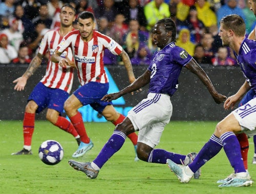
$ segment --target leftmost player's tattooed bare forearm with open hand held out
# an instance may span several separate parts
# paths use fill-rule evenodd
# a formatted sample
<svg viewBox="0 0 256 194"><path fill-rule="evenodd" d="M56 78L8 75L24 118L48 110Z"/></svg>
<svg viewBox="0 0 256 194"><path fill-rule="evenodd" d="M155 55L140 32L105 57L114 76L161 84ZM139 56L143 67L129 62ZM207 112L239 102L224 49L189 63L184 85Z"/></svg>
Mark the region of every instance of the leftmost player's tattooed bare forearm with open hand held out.
<svg viewBox="0 0 256 194"><path fill-rule="evenodd" d="M24 90L24 88L27 84L27 80L34 74L36 69L41 65L42 57L43 56L38 53L30 62L29 66L28 66L27 70L25 71L25 73L23 74L23 76L19 77L13 81L13 83L16 83L16 85L14 86L15 90L17 90L17 91Z"/></svg>

